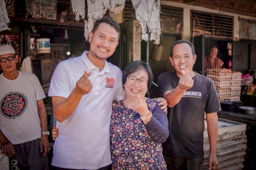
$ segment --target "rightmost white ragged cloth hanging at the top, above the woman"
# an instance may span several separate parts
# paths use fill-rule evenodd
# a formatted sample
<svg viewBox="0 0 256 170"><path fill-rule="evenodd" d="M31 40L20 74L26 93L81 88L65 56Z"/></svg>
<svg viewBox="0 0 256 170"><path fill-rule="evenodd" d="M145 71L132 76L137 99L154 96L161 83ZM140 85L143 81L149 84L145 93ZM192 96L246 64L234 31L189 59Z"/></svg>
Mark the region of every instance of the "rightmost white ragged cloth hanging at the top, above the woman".
<svg viewBox="0 0 256 170"><path fill-rule="evenodd" d="M160 43L160 0L131 0L136 14L136 19L141 26L141 39L147 41L147 26L150 33L150 40L154 44Z"/></svg>

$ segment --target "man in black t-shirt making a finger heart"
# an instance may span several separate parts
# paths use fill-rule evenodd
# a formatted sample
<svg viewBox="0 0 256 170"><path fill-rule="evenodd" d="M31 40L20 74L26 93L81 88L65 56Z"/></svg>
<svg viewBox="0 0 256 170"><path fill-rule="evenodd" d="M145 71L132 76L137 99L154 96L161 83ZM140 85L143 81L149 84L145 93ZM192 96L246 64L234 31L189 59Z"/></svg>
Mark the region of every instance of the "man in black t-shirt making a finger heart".
<svg viewBox="0 0 256 170"><path fill-rule="evenodd" d="M178 40L172 45L170 54L175 71L160 74L158 77L160 96L168 101L169 107L170 135L163 144L169 170L202 170L204 112L210 144L209 170L218 167L217 111L221 110L221 106L212 80L192 70L195 60L194 45Z"/></svg>

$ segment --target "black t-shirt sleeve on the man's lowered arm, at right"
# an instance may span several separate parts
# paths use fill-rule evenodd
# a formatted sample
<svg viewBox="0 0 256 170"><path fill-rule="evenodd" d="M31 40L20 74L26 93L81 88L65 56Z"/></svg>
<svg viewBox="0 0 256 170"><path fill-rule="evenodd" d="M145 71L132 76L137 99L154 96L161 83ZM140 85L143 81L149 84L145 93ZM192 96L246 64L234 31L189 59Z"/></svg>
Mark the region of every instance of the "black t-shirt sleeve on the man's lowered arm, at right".
<svg viewBox="0 0 256 170"><path fill-rule="evenodd" d="M212 80L210 80L209 94L207 98L205 113L214 113L218 111L221 111L221 105L218 99L218 94L214 86L214 83L212 82Z"/></svg>

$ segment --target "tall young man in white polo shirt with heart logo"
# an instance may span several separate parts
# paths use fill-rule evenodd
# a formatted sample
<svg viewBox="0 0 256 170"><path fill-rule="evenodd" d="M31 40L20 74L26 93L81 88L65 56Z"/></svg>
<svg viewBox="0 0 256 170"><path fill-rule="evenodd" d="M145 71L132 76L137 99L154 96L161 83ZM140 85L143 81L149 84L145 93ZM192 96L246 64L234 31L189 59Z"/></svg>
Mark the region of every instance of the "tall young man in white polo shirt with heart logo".
<svg viewBox="0 0 256 170"><path fill-rule="evenodd" d="M110 169L111 106L113 100L124 99L125 91L121 70L106 59L119 37L119 25L103 17L89 34L90 51L55 69L48 95L58 121L52 158L58 170Z"/></svg>

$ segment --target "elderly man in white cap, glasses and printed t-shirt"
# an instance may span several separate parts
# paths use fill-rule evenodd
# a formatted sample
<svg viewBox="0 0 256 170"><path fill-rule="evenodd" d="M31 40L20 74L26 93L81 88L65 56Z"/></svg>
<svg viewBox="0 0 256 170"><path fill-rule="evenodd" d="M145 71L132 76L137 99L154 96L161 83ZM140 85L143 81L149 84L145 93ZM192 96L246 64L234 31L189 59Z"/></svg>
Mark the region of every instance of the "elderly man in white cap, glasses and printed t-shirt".
<svg viewBox="0 0 256 170"><path fill-rule="evenodd" d="M17 71L11 45L0 47L0 144L10 169L48 170L44 91L34 74ZM1 168L0 168L1 169Z"/></svg>

